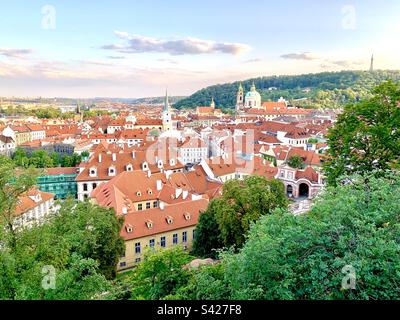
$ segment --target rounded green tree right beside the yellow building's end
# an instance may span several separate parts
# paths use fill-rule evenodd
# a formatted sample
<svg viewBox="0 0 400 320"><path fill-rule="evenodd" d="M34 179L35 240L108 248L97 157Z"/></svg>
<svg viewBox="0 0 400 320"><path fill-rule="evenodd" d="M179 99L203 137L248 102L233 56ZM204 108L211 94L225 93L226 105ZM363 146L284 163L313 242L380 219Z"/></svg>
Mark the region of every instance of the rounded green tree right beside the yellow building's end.
<svg viewBox="0 0 400 320"><path fill-rule="evenodd" d="M206 216L200 218L194 250L202 256L214 256L212 249L221 248L221 244L240 248L252 223L276 208L286 207L285 188L279 180L249 176L244 181L228 181L222 197L214 199L203 213Z"/></svg>

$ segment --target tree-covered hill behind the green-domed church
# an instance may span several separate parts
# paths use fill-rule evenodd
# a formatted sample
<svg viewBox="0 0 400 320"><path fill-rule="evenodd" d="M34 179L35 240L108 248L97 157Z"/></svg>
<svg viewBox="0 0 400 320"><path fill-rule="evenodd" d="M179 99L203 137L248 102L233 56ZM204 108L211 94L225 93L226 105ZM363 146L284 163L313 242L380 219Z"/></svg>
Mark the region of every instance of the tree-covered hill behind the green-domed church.
<svg viewBox="0 0 400 320"><path fill-rule="evenodd" d="M364 99L370 89L385 80L400 81L400 71L341 71L296 76L260 77L242 81L245 93L255 83L263 101L280 97L292 104L308 108L335 108ZM177 109L209 105L214 97L219 108L234 108L239 81L201 89L174 104Z"/></svg>

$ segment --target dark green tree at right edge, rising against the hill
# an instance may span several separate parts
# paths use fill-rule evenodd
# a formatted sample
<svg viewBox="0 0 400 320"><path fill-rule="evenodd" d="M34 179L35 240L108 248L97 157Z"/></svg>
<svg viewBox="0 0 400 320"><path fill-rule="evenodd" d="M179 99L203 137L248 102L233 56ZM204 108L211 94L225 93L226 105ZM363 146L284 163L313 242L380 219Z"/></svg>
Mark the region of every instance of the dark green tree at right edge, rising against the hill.
<svg viewBox="0 0 400 320"><path fill-rule="evenodd" d="M385 82L373 93L346 106L328 134L325 172L331 184L344 174L382 173L399 164L400 84Z"/></svg>

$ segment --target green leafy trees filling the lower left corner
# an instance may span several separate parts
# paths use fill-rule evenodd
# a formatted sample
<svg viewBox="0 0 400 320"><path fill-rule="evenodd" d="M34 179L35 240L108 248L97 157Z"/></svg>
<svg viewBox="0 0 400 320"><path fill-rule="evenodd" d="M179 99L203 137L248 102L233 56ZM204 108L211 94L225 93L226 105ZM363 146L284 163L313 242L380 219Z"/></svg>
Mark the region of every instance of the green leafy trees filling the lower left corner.
<svg viewBox="0 0 400 320"><path fill-rule="evenodd" d="M0 299L96 299L111 288L125 250L112 210L67 199L56 215L32 228L14 228L18 197L36 181L32 169L15 174L0 157ZM44 268L55 272L46 288Z"/></svg>

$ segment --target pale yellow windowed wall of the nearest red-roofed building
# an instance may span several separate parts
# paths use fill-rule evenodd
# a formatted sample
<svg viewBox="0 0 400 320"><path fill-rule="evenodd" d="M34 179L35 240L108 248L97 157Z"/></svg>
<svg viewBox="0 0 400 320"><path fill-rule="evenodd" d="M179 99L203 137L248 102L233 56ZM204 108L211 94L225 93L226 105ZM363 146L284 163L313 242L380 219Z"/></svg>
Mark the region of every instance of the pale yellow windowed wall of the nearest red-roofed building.
<svg viewBox="0 0 400 320"><path fill-rule="evenodd" d="M151 235L147 237L142 237L138 239L128 240L125 241L125 256L120 258L118 263L117 269L119 271L133 268L138 263L143 260L143 253L145 252L146 248L149 248L149 243L151 239L154 239L155 244L154 247L156 249L162 248L161 247L161 237L165 237L166 239L166 246L165 248L171 248L174 246L186 246L189 250L192 248L193 245L193 231L195 230L195 226L177 229L174 231L169 231L165 233L160 233L156 235ZM182 233L187 232L187 242L182 242ZM173 235L178 234L178 244L173 244ZM135 244L140 243L140 253L135 253ZM140 259L140 260L139 260Z"/></svg>

